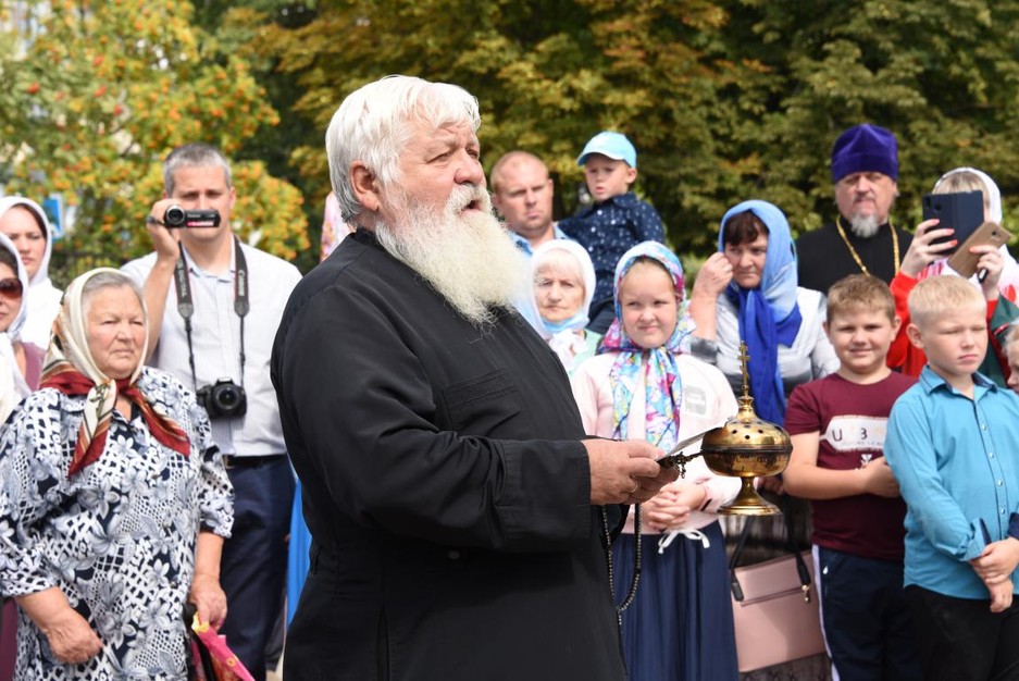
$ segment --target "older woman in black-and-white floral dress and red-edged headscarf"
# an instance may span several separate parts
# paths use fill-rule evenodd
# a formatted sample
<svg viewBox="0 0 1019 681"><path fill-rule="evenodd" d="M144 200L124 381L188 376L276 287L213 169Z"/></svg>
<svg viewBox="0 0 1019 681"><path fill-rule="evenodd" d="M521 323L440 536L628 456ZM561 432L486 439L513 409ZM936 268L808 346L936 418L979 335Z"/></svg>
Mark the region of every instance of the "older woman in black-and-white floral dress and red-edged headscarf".
<svg viewBox="0 0 1019 681"><path fill-rule="evenodd" d="M17 679L181 679L185 603L213 627L226 616L229 480L195 396L142 367L147 329L131 278L77 277L41 387L0 435L0 594L21 609Z"/></svg>

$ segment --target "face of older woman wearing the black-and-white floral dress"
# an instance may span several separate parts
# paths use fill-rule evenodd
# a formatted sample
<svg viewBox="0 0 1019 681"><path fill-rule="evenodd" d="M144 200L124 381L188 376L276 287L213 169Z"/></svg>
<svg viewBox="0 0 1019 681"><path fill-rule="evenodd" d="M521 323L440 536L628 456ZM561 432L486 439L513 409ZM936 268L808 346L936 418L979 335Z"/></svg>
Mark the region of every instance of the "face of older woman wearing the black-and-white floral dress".
<svg viewBox="0 0 1019 681"><path fill-rule="evenodd" d="M83 301L88 351L111 379L127 379L145 352L145 312L131 286L100 288Z"/></svg>

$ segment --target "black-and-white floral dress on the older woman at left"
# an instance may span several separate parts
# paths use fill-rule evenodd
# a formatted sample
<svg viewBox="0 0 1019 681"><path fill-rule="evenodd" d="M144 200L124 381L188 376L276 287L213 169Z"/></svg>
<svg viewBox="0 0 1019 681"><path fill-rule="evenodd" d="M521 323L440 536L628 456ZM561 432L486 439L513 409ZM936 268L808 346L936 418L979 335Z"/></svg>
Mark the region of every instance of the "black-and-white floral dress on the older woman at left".
<svg viewBox="0 0 1019 681"><path fill-rule="evenodd" d="M200 529L229 535L233 490L194 394L149 368L138 386L188 433L189 457L137 409L114 412L102 456L69 480L85 397L53 388L28 396L0 434L0 594L58 586L103 643L86 664L61 664L22 614L17 679L186 678L195 544Z"/></svg>

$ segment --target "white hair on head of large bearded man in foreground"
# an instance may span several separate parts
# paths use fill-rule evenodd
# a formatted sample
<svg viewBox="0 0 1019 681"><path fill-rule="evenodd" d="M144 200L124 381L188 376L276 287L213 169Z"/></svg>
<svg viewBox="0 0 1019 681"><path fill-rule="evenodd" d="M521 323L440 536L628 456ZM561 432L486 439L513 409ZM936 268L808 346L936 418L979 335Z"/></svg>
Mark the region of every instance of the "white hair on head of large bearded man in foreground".
<svg viewBox="0 0 1019 681"><path fill-rule="evenodd" d="M457 85L431 83L412 76L386 76L349 95L325 132L330 181L343 219L351 222L362 210L350 166L360 161L383 186L399 181L399 157L413 135L410 123L436 128L469 123L481 127L477 99Z"/></svg>

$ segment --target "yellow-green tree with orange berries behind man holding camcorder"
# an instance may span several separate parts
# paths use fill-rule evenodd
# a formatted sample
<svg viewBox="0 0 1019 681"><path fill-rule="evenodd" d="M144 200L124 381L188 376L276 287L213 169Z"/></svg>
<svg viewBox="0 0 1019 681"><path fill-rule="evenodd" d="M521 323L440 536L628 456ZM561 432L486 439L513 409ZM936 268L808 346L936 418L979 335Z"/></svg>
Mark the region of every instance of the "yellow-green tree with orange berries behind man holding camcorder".
<svg viewBox="0 0 1019 681"><path fill-rule="evenodd" d="M0 165L8 191L63 196L75 231L66 280L150 250L144 219L160 162L207 141L227 156L278 122L243 59L190 23L185 2L22 2L0 9ZM235 230L284 258L308 248L302 198L257 161L237 163Z"/></svg>

